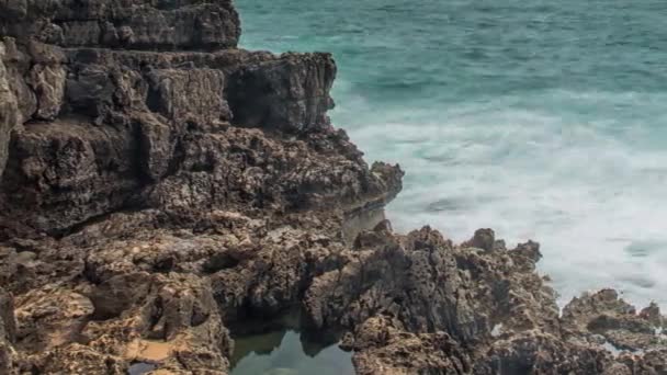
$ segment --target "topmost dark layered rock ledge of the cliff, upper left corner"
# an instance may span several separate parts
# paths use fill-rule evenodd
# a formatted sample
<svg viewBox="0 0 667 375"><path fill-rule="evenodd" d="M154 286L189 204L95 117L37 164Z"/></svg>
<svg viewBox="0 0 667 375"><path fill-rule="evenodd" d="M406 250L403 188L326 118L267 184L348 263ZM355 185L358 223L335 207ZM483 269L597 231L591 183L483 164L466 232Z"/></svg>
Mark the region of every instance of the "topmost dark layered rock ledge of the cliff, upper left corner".
<svg viewBox="0 0 667 375"><path fill-rule="evenodd" d="M229 0L14 0L0 14L0 34L65 47L229 48L240 34Z"/></svg>

